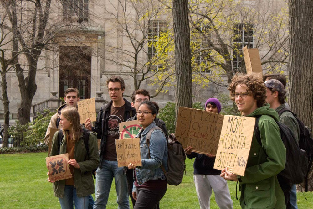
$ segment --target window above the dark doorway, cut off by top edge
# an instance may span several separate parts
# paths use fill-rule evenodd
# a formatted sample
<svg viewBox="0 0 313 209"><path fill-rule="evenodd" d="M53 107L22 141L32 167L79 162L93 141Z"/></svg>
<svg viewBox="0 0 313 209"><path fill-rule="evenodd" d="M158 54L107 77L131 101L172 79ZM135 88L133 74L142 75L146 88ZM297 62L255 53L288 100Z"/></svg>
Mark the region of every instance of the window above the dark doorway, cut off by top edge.
<svg viewBox="0 0 313 209"><path fill-rule="evenodd" d="M62 0L64 20L88 22L88 0Z"/></svg>

